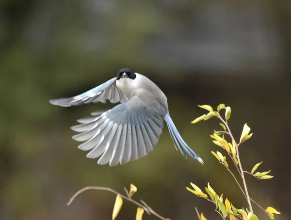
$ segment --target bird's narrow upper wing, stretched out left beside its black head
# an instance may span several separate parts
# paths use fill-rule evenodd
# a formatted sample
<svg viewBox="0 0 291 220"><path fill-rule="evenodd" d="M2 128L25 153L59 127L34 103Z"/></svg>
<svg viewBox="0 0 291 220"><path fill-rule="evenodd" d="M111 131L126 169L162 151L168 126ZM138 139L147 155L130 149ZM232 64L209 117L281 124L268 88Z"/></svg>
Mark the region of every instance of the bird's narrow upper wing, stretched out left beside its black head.
<svg viewBox="0 0 291 220"><path fill-rule="evenodd" d="M87 104L90 102L102 102L105 103L106 100L111 103L117 102L128 102L128 97L121 92L116 86L116 77L104 82L103 84L76 96L69 98L56 98L50 99L49 102L52 105L69 107L69 106L79 106L82 104Z"/></svg>

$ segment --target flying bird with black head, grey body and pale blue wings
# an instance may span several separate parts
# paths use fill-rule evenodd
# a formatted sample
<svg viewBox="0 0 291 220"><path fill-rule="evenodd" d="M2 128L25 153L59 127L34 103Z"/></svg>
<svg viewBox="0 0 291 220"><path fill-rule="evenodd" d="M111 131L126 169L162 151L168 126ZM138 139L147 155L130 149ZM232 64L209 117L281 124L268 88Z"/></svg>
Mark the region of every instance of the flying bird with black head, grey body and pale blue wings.
<svg viewBox="0 0 291 220"><path fill-rule="evenodd" d="M110 110L92 112L72 126L79 134L72 136L81 141L78 148L89 151L87 158L98 158L97 164L123 165L140 159L157 145L164 126L169 129L176 150L186 153L203 164L203 160L182 139L170 117L167 97L146 76L122 68L117 76L82 94L50 99L52 105L80 106L88 103L120 103ZM185 153L186 152L186 153Z"/></svg>

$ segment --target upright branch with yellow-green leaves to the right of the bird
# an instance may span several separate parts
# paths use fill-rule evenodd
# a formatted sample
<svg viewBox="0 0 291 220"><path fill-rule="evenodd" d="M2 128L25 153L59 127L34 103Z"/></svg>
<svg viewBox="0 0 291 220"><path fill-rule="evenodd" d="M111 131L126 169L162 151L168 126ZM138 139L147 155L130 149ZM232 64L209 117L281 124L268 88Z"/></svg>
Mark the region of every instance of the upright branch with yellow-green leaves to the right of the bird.
<svg viewBox="0 0 291 220"><path fill-rule="evenodd" d="M241 208L241 209L235 208L233 206L233 204L229 202L228 199L226 199L225 201L223 200L223 194L218 196L218 194L210 187L209 183L208 183L208 187L205 187L205 191L207 192L208 195L206 193L204 193L194 183L191 183L191 186L193 187L193 189L190 189L188 187L186 189L188 189L190 192L194 193L196 196L202 197L202 198L212 202L213 204L215 204L215 211L220 214L222 219L226 219L226 217L228 216L230 220L237 220L237 219L259 220L259 218L254 214L252 202L254 204L257 204L259 206L259 208L261 208L270 217L270 219L272 219L272 220L275 219L274 214L280 214L280 213L277 210L275 210L275 208L270 207L270 206L267 207L266 209L263 209L257 202L255 202L253 199L250 198L248 188L246 185L244 173L251 174L259 180L271 179L274 177L272 175L268 175L271 172L271 170L266 171L266 172L262 172L262 173L256 172L256 170L259 168L259 165L262 162L257 163L253 167L251 172L244 171L242 168L239 147L244 141L247 141L248 139L250 139L252 137L253 133L250 133L250 130L251 130L250 127L247 126L247 124L244 124L244 126L242 128L242 135L241 135L240 141L237 142L237 141L235 141L234 136L232 135L230 127L228 125L228 120L230 119L230 116L231 116L231 108L229 106L226 107L225 104L220 104L217 107L217 111L214 111L213 108L209 105L201 105L201 106L198 105L198 106L202 109L208 110L209 112L207 114L204 114L204 115L196 118L192 122L193 124L200 122L200 121L208 120L212 117L217 117L222 122L219 125L223 128L223 130L221 130L221 131L214 130L214 133L212 135L210 135L210 137L213 139L212 141L214 144L218 145L224 151L226 151L227 156L230 157L231 161L234 163L234 165L238 171L239 178L241 179L242 185L240 184L240 181L236 177L236 175L229 169L228 163L226 161L226 156L224 156L219 151L216 151L216 152L211 151L211 154L214 157L216 157L216 159L219 161L219 163L221 163L226 168L226 170L231 174L231 176L235 180L236 184L239 186L240 190L242 191L242 194L244 195L244 197L247 201L248 207L245 210L243 208ZM221 116L222 110L225 111L224 112L225 119ZM227 140L231 140L231 141L228 142ZM210 197L210 199L209 199L209 197ZM206 220L206 218L204 216L202 216L202 215L199 216L198 211L197 211L197 213L198 213L199 219Z"/></svg>

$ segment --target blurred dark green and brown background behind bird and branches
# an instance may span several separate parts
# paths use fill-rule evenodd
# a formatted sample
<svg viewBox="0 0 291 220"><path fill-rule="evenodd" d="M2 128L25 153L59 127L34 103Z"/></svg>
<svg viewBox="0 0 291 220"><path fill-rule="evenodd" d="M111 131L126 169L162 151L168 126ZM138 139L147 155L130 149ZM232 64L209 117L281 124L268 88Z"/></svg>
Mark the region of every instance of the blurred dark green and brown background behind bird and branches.
<svg viewBox="0 0 291 220"><path fill-rule="evenodd" d="M128 67L167 95L184 140L205 165L184 159L164 128L155 150L124 166L97 165L71 139L70 126L113 104L61 108L50 98L80 94ZM291 1L258 0L1 0L0 219L109 220L115 195L86 191L133 183L155 211L172 220L220 217L185 188L210 182L236 207L242 193L218 164L210 139L218 119L192 125L197 104L232 108L237 139L244 123L254 136L241 147L242 165L272 169L272 180L246 176L251 197L291 219ZM233 168L233 167L232 167ZM235 172L235 170L234 170ZM268 217L254 204L261 220ZM135 218L128 202L117 217ZM152 216L145 219L153 220Z"/></svg>

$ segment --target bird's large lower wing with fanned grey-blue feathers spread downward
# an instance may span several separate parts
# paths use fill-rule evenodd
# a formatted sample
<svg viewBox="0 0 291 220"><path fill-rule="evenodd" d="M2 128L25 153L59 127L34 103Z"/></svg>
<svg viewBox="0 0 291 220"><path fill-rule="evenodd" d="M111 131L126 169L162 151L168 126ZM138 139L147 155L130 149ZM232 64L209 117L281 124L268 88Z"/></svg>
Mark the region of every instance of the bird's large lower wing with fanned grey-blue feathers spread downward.
<svg viewBox="0 0 291 220"><path fill-rule="evenodd" d="M88 158L101 156L98 164L110 166L146 156L159 141L163 128L162 116L138 97L78 121L82 124L71 127L82 132L73 136L76 141L85 141L78 148L91 150Z"/></svg>

